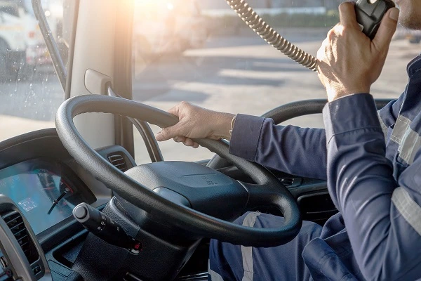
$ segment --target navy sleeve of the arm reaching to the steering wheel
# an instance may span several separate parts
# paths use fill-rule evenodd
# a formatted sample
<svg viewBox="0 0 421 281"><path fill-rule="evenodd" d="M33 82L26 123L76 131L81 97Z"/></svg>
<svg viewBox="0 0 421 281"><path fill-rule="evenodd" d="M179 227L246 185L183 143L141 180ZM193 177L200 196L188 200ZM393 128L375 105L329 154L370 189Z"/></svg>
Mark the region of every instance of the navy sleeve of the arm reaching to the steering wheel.
<svg viewBox="0 0 421 281"><path fill-rule="evenodd" d="M237 115L229 152L288 174L326 180L324 129L277 126L272 119Z"/></svg>

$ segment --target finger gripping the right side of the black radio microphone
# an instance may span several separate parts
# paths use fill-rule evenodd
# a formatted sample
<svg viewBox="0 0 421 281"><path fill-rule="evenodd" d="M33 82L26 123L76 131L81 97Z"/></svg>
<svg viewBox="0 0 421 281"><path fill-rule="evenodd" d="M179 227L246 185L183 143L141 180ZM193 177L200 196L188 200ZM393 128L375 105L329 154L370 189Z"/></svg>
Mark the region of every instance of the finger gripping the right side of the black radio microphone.
<svg viewBox="0 0 421 281"><path fill-rule="evenodd" d="M390 42L398 25L398 18L398 8L390 8L383 17L379 30L377 30L377 34L375 34L373 39L373 44L377 51L387 51L389 49Z"/></svg>

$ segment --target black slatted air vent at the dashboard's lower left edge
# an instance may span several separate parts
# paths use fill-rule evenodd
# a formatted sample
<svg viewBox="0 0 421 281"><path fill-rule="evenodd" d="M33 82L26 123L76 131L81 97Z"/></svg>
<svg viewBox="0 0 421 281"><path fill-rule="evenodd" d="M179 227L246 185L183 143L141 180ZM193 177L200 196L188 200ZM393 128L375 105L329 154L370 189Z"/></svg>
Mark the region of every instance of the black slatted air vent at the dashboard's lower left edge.
<svg viewBox="0 0 421 281"><path fill-rule="evenodd" d="M25 253L29 263L33 263L39 258L38 251L36 251L34 242L32 242L31 237L23 223L22 216L17 211L8 211L1 215L1 217L6 222L8 228L15 236L16 240L20 244L22 251Z"/></svg>

